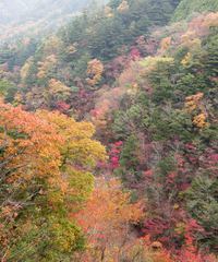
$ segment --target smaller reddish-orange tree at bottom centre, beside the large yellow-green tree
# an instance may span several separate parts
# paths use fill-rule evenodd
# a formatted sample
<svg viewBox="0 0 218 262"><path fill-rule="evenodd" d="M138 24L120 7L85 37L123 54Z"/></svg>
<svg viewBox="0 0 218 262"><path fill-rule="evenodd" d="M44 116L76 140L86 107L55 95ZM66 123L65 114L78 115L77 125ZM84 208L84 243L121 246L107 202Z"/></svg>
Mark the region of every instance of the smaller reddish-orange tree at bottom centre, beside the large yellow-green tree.
<svg viewBox="0 0 218 262"><path fill-rule="evenodd" d="M76 218L86 233L87 249L78 261L121 261L134 243L131 225L143 216L142 203L130 203L117 179L98 179L89 201Z"/></svg>

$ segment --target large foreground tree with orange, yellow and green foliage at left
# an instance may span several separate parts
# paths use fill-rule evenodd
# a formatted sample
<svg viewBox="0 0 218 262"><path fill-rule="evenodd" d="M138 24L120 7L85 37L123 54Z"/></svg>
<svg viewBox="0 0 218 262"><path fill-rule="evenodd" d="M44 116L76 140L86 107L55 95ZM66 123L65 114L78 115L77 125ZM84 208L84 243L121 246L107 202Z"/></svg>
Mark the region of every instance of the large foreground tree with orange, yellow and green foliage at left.
<svg viewBox="0 0 218 262"><path fill-rule="evenodd" d="M0 102L0 260L60 261L82 248L76 212L105 147L88 122Z"/></svg>

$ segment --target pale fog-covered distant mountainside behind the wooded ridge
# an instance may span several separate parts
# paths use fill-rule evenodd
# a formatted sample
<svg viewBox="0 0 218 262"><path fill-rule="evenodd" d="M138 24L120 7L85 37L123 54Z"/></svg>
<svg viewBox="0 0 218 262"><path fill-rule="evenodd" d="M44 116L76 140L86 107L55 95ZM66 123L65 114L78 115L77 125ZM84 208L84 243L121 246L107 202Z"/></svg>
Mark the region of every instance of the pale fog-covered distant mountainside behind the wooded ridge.
<svg viewBox="0 0 218 262"><path fill-rule="evenodd" d="M0 45L55 32L92 4L107 0L0 0Z"/></svg>

